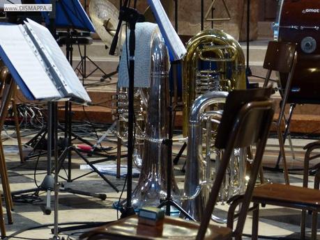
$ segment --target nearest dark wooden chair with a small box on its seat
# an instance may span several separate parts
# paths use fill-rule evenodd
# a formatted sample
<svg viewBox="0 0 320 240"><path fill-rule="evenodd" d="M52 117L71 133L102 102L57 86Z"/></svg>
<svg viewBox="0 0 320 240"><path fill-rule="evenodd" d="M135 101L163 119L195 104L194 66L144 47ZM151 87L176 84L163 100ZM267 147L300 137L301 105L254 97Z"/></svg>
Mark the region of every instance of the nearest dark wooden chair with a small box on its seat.
<svg viewBox="0 0 320 240"><path fill-rule="evenodd" d="M254 90L234 90L229 93L218 127L215 146L224 149L221 165L215 177L208 198L204 218L201 223L185 221L180 218L165 217L162 227L139 225L137 216L123 218L104 227L86 232L80 239L230 239L232 235L241 239L242 229L231 233L228 227L209 224L219 189L224 179L229 158L235 147L246 147L257 143L254 170L245 191L246 202L241 208L241 218L245 221L250 204L252 190L256 182L268 131L273 120L273 102L269 99L270 88Z"/></svg>

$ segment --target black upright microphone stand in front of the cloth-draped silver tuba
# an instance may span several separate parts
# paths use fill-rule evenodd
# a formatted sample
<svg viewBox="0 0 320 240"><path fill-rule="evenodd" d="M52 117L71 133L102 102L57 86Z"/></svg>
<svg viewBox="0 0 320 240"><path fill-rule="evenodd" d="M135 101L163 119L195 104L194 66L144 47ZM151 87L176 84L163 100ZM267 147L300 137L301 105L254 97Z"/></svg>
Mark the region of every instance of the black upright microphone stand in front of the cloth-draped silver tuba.
<svg viewBox="0 0 320 240"><path fill-rule="evenodd" d="M137 0L135 0L135 5ZM109 50L110 55L114 55L116 44L119 38L119 32L123 21L128 22L130 29L129 36L129 90L128 90L128 168L127 168L127 200L121 218L132 216L135 210L132 207L132 156L133 156L133 123L134 123L134 87L135 87L135 25L139 19L139 13L135 8L129 8L128 0L120 8L119 24L116 28L116 34L112 40L112 45Z"/></svg>

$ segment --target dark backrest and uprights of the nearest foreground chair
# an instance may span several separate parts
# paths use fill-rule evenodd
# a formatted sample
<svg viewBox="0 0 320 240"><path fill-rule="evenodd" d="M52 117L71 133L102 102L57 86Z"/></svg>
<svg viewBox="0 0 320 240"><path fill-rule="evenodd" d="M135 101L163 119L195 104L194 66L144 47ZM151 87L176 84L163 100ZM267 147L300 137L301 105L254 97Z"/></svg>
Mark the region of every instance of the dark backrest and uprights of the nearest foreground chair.
<svg viewBox="0 0 320 240"><path fill-rule="evenodd" d="M218 127L218 134L215 139L215 147L224 149L224 152L215 177L215 182L208 196L208 202L204 211L204 217L201 219L197 240L204 239L206 228L211 219L220 186L234 148L246 147L255 143L257 145L257 151L254 156L250 180L247 184L245 198L239 214L239 220L246 218L252 191L264 154L264 147L268 139L268 132L273 120L274 104L270 99L270 95L271 88L234 90L229 93ZM236 231L242 232L242 230L243 226L237 225Z"/></svg>

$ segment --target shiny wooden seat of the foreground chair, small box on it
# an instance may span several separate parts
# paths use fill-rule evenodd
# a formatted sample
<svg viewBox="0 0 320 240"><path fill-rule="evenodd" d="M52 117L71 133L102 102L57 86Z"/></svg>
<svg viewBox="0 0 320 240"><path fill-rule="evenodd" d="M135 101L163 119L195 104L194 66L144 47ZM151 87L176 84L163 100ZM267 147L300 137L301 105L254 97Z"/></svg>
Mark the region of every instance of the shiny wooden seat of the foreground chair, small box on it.
<svg viewBox="0 0 320 240"><path fill-rule="evenodd" d="M80 239L195 239L199 225L197 222L169 216L165 217L163 227L138 225L137 216L130 216L86 232ZM209 225L205 239L223 240L230 237L231 230L228 227Z"/></svg>

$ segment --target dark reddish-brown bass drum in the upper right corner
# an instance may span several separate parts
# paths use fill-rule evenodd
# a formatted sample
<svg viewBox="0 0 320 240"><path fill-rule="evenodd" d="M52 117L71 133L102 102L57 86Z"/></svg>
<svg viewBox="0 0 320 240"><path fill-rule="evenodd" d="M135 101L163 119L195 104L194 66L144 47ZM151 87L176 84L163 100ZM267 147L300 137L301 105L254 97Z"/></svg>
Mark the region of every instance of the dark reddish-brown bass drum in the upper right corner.
<svg viewBox="0 0 320 240"><path fill-rule="evenodd" d="M298 44L288 102L320 104L320 1L279 1L275 40ZM280 79L285 86L286 76Z"/></svg>

